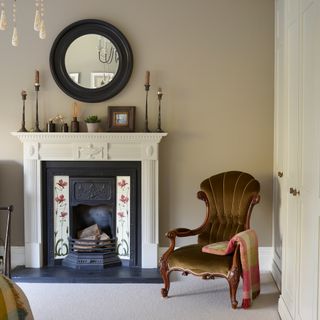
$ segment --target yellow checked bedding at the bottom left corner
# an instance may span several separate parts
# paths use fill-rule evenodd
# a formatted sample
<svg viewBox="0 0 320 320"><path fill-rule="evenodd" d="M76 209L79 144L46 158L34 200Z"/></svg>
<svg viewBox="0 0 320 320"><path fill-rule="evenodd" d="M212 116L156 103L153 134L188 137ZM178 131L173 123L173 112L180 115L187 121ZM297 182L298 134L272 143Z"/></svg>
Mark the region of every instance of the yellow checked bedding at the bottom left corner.
<svg viewBox="0 0 320 320"><path fill-rule="evenodd" d="M0 274L0 319L33 320L27 297L12 280Z"/></svg>

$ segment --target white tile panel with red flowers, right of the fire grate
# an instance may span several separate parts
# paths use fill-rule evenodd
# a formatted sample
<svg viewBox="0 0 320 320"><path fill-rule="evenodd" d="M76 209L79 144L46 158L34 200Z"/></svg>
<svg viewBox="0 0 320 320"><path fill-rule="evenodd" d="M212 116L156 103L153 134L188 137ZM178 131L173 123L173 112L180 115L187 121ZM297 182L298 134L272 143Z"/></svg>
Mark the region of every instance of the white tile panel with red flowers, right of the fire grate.
<svg viewBox="0 0 320 320"><path fill-rule="evenodd" d="M130 259L130 177L117 176L117 240L121 259Z"/></svg>

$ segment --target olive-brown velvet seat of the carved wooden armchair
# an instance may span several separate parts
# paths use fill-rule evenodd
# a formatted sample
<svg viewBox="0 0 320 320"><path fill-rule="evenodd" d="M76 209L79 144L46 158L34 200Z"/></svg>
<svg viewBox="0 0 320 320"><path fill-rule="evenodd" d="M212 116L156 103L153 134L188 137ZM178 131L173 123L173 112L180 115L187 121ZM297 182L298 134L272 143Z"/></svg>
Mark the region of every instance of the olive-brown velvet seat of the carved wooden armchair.
<svg viewBox="0 0 320 320"><path fill-rule="evenodd" d="M217 273L227 275L232 255L216 256L202 252L203 245L194 244L176 249L168 259L169 269L178 268L196 275Z"/></svg>

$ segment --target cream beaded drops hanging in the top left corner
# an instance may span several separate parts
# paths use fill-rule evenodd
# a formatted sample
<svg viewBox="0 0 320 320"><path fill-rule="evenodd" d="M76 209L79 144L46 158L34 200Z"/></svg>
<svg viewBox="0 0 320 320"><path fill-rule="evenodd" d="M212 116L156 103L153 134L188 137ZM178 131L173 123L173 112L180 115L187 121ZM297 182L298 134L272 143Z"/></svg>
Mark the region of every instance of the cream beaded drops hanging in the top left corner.
<svg viewBox="0 0 320 320"><path fill-rule="evenodd" d="M8 2L8 1L7 1ZM5 0L0 0L1 13L0 13L0 30L6 30L8 27L8 19L6 14ZM33 28L39 33L40 39L46 38L46 27L44 23L44 0L35 0L35 17ZM17 0L12 0L12 40L11 44L17 47L19 44L18 29L17 29Z"/></svg>

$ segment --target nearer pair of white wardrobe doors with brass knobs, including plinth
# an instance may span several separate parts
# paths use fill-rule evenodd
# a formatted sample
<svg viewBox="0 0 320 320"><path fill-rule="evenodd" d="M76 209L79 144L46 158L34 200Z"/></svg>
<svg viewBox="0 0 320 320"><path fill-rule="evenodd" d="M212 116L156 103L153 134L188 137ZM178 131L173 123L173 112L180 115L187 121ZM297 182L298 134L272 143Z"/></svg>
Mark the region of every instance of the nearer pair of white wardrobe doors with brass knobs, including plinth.
<svg viewBox="0 0 320 320"><path fill-rule="evenodd" d="M279 311L283 319L319 320L320 0L285 0L285 26L287 210Z"/></svg>

